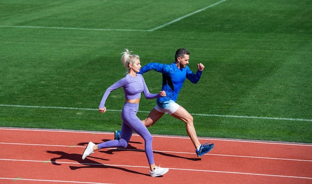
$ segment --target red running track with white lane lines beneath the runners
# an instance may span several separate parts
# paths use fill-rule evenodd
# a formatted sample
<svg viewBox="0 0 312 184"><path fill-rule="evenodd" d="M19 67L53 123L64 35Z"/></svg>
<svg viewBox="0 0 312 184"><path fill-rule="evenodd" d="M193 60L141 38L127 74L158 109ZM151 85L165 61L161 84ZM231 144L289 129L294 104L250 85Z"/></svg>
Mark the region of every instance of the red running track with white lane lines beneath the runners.
<svg viewBox="0 0 312 184"><path fill-rule="evenodd" d="M312 184L312 145L200 139L213 142L197 157L188 137L156 136L156 165L149 176L143 139L134 134L127 149L102 149L81 159L89 141L113 133L0 127L0 184Z"/></svg>

